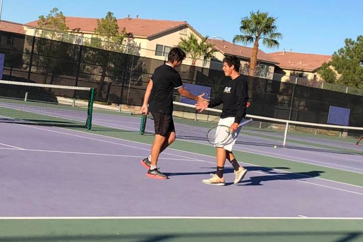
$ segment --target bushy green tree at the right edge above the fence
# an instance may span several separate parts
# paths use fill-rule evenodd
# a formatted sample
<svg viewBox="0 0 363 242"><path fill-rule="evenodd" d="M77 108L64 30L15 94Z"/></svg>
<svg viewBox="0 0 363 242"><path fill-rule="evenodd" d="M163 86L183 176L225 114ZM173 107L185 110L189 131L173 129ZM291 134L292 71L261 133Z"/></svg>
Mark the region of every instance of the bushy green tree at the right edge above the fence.
<svg viewBox="0 0 363 242"><path fill-rule="evenodd" d="M363 88L363 35L356 41L345 39L345 46L334 52L330 65L340 76L338 84Z"/></svg>

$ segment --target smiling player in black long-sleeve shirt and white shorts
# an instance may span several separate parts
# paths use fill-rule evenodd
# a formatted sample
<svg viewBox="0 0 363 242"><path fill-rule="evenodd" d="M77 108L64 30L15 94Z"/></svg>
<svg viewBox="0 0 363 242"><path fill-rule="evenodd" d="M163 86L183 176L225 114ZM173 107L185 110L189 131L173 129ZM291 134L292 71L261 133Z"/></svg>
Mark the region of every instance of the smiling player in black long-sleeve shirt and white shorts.
<svg viewBox="0 0 363 242"><path fill-rule="evenodd" d="M238 132L238 124L246 115L246 105L248 100L248 85L239 75L239 60L236 56L227 56L223 59L224 75L228 80L224 83L223 93L215 99L210 100L209 105L197 103L196 108L203 111L207 107L214 107L223 104L222 113L218 125L229 126L230 130ZM218 134L217 134L218 135ZM203 183L210 185L225 185L223 169L225 160L228 159L234 168L234 184L237 184L245 176L247 170L241 167L236 161L232 148L237 138L227 144L216 145L217 149L217 172L209 179L204 179Z"/></svg>

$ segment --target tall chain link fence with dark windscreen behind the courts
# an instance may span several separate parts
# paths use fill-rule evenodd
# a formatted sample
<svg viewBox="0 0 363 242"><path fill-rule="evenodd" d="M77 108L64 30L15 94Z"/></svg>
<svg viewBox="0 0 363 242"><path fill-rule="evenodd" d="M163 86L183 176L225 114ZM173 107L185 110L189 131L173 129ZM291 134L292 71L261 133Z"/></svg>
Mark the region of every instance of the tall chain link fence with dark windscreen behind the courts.
<svg viewBox="0 0 363 242"><path fill-rule="evenodd" d="M164 51L137 45L110 51L94 47L92 39L86 44L88 40L82 36L72 39L61 34L57 37L60 39L52 40L36 35L0 31L0 53L5 54L4 80L92 87L98 102L141 106L152 73L166 61ZM186 59L177 68L185 83L210 87L212 98L221 92L224 73L220 63L199 60L197 66L190 66L189 62ZM252 103L249 114L326 124L329 107L334 105L351 110L350 126L363 126L360 91L296 77L281 82L274 80L275 73L264 75L245 76ZM179 98L174 95L174 101Z"/></svg>

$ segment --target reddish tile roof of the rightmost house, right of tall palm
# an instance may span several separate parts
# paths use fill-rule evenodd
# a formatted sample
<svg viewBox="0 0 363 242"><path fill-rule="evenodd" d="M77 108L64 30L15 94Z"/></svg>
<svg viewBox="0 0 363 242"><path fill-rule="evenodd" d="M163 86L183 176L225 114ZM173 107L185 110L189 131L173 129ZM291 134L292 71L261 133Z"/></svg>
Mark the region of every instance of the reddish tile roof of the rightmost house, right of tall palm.
<svg viewBox="0 0 363 242"><path fill-rule="evenodd" d="M331 55L280 51L268 54L279 63L281 69L314 72L324 62L331 61Z"/></svg>

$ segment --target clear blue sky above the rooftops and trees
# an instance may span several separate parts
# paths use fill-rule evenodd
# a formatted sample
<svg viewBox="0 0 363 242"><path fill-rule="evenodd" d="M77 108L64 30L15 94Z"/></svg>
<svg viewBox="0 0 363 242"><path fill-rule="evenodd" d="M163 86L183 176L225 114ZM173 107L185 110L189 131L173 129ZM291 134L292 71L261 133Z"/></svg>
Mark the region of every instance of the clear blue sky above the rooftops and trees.
<svg viewBox="0 0 363 242"><path fill-rule="evenodd" d="M344 46L345 38L363 34L362 2L359 0L306 1L164 1L164 0L3 0L2 19L19 23L36 20L57 7L65 16L102 18L108 11L116 18L131 17L188 21L202 35L231 41L239 34L240 19L250 11L267 11L278 17L283 34L278 49L332 54Z"/></svg>

